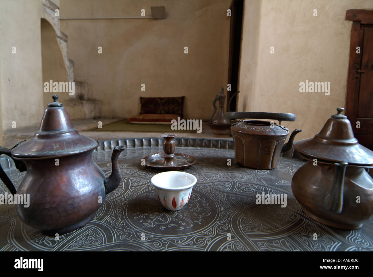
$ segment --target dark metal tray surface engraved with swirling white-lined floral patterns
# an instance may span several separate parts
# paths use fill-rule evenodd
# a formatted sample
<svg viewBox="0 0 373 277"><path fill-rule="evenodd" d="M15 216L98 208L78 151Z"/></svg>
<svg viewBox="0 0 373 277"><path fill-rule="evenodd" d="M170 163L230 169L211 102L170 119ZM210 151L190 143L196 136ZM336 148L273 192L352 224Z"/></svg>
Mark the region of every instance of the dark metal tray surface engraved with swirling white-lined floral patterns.
<svg viewBox="0 0 373 277"><path fill-rule="evenodd" d="M373 251L373 221L358 230L338 230L301 211L291 178L303 162L290 158L280 158L276 169L255 170L235 164L234 150L176 147L176 152L197 159L185 169L197 183L190 195L182 196L182 209L168 211L160 203L166 195L157 194L150 182L158 172L141 166L143 157L161 151L126 149L119 157L119 187L107 195L91 222L59 240L21 222L13 205L0 205L0 232L7 234L0 237L0 250ZM93 153L106 176L110 156L111 151ZM7 174L18 187L24 172L11 169ZM5 192L0 183L0 193ZM287 194L286 208L257 205L261 193Z"/></svg>

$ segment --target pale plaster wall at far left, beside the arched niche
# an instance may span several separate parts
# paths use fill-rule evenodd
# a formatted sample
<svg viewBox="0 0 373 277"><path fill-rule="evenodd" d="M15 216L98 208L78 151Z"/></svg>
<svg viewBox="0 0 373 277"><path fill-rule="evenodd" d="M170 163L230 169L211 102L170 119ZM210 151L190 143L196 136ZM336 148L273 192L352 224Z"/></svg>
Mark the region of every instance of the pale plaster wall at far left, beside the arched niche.
<svg viewBox="0 0 373 277"><path fill-rule="evenodd" d="M1 130L12 129L13 121L17 128L40 122L36 112L43 112L40 15L39 1L0 2ZM0 144L3 140L1 132Z"/></svg>

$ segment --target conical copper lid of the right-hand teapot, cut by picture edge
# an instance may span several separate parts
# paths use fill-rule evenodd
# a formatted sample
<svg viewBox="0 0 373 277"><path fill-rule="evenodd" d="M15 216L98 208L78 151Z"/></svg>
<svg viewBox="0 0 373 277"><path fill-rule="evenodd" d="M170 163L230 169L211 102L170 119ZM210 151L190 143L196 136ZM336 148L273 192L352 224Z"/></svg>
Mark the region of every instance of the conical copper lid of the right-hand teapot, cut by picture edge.
<svg viewBox="0 0 373 277"><path fill-rule="evenodd" d="M358 143L351 122L342 115L344 108L329 118L313 138L294 143L294 148L306 156L330 162L347 162L350 165L373 165L373 151Z"/></svg>

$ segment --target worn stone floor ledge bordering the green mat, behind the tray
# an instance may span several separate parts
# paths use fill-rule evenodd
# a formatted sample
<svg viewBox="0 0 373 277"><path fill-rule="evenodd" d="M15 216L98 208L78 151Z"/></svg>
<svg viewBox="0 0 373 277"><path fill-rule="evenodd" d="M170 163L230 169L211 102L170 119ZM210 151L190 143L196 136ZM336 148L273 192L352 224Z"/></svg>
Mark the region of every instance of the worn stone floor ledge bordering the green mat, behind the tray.
<svg viewBox="0 0 373 277"><path fill-rule="evenodd" d="M79 131L80 134L93 138L95 140L109 140L118 138L137 138L137 137L157 137L162 133L140 133L140 132L104 132L104 131L84 131L91 130L97 127L98 121L102 122L102 125L107 125L122 118L99 118L99 119L85 119L85 120L73 120L72 124ZM39 126L28 126L24 128L15 128L7 130L5 132L5 145L4 147L10 148L22 140L28 140L32 138L35 132L39 129ZM176 134L178 132L175 132ZM196 138L222 138L232 139L229 135L216 135L211 133L211 129L203 124L202 133L180 133L182 137L196 137Z"/></svg>

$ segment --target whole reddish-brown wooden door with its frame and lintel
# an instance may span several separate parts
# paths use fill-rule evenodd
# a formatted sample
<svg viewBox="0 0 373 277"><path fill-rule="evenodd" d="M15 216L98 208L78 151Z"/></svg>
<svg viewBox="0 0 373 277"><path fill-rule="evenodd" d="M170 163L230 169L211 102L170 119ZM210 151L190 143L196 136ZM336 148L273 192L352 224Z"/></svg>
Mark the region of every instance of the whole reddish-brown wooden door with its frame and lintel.
<svg viewBox="0 0 373 277"><path fill-rule="evenodd" d="M351 29L346 115L359 143L373 150L373 11L348 10Z"/></svg>

